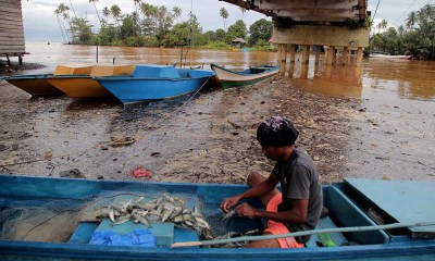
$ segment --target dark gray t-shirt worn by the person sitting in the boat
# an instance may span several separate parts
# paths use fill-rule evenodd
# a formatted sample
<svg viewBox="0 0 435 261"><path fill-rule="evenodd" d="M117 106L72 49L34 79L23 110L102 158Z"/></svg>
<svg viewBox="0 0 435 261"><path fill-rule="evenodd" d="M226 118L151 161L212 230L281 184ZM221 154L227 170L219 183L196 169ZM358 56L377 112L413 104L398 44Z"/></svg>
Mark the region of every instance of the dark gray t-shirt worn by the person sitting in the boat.
<svg viewBox="0 0 435 261"><path fill-rule="evenodd" d="M323 207L322 187L314 163L309 154L295 148L288 161L277 161L272 171L281 181L283 203L278 211L289 211L293 199L308 199L307 222L286 224L290 232L314 229ZM310 236L295 237L298 243L307 243Z"/></svg>

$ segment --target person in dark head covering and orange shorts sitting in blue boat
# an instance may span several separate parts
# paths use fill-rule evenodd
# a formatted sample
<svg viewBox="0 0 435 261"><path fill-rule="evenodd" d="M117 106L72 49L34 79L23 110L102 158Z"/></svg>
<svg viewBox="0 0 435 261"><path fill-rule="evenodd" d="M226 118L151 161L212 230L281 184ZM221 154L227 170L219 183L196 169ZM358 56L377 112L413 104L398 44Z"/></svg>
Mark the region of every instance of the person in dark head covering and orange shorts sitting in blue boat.
<svg viewBox="0 0 435 261"><path fill-rule="evenodd" d="M264 156L276 161L268 178L257 172L248 176L247 191L225 198L221 203L227 213L241 199L260 197L265 210L241 203L235 213L249 219L266 219L263 235L279 235L290 232L314 229L323 206L319 174L310 156L295 146L299 132L291 122L272 116L263 121L257 129L257 140ZM275 188L281 183L282 192ZM310 236L254 240L249 248L301 248Z"/></svg>

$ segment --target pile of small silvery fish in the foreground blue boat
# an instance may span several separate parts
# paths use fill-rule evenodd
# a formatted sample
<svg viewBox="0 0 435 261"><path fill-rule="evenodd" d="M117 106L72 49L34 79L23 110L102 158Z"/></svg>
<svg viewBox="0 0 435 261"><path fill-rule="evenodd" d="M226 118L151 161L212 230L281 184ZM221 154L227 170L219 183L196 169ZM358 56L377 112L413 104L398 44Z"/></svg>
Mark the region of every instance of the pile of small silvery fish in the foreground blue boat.
<svg viewBox="0 0 435 261"><path fill-rule="evenodd" d="M107 212L97 217L109 217L113 225L132 220L148 227L152 226L152 222L173 222L177 226L197 231L202 239L213 239L210 225L198 208L190 210L185 207L182 199L167 194L151 201L138 197L135 200L129 199L128 202L112 202L108 206Z"/></svg>

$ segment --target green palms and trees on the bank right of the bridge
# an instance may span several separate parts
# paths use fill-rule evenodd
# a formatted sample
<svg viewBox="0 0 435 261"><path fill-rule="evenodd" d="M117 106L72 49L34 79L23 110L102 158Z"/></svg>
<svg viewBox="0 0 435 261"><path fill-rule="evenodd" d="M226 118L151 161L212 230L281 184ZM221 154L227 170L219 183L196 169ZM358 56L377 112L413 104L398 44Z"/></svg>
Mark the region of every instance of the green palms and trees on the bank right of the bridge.
<svg viewBox="0 0 435 261"><path fill-rule="evenodd" d="M368 52L412 55L419 60L435 60L435 5L426 4L408 14L406 27L388 27L383 20L377 33L370 37ZM384 30L383 33L380 33Z"/></svg>

